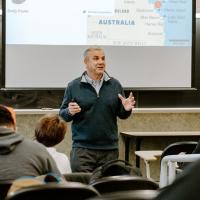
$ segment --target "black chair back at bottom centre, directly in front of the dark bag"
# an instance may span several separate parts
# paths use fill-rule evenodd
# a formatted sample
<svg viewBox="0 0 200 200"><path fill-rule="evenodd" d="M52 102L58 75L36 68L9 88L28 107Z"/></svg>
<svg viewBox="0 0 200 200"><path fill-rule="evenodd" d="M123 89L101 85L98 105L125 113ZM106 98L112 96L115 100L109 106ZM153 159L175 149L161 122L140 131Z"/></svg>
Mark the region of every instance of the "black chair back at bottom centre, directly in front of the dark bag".
<svg viewBox="0 0 200 200"><path fill-rule="evenodd" d="M100 194L127 190L157 190L154 181L136 176L107 176L91 184Z"/></svg>

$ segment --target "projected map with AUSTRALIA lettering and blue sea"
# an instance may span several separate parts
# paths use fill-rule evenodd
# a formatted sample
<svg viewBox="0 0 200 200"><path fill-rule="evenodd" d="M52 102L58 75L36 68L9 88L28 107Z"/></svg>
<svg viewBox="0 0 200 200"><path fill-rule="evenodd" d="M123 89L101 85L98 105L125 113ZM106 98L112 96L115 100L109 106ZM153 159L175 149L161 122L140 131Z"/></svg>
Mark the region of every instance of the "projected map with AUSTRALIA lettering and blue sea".
<svg viewBox="0 0 200 200"><path fill-rule="evenodd" d="M191 46L188 0L116 0L113 9L111 15L88 15L88 44Z"/></svg>

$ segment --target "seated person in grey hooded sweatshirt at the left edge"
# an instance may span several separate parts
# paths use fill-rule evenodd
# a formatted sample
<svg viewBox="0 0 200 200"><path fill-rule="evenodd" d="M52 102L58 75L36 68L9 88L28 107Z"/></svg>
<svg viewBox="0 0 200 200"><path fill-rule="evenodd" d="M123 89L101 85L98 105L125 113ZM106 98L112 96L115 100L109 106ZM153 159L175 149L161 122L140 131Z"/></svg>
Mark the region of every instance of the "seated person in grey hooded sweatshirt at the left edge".
<svg viewBox="0 0 200 200"><path fill-rule="evenodd" d="M60 175L45 147L16 133L16 115L12 108L0 105L0 181L22 176Z"/></svg>

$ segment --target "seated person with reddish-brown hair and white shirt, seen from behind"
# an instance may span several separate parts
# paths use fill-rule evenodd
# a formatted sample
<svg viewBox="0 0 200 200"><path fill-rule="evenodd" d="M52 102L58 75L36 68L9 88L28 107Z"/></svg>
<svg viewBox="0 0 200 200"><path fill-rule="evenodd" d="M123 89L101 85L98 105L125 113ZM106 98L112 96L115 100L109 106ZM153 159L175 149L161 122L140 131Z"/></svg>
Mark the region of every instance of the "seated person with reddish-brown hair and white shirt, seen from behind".
<svg viewBox="0 0 200 200"><path fill-rule="evenodd" d="M58 115L45 115L35 128L35 139L47 147L62 174L71 173L68 157L54 148L65 137L67 124Z"/></svg>

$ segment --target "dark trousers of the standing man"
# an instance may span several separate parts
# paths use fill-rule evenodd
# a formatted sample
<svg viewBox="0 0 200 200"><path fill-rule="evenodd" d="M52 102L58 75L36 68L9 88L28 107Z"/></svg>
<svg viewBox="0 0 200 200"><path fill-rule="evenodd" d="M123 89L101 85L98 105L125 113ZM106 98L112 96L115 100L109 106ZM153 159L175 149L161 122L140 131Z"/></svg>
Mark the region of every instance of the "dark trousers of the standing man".
<svg viewBox="0 0 200 200"><path fill-rule="evenodd" d="M93 172L97 167L118 159L119 151L72 148L70 163L72 172Z"/></svg>

